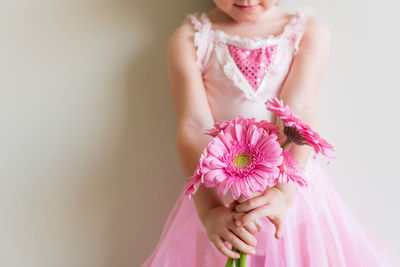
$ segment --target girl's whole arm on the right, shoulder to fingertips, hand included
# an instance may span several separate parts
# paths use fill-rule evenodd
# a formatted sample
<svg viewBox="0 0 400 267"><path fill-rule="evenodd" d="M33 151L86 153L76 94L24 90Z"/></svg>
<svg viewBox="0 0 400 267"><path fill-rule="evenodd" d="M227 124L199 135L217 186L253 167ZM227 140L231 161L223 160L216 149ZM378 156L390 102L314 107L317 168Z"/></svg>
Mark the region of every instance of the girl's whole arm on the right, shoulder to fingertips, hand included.
<svg viewBox="0 0 400 267"><path fill-rule="evenodd" d="M317 98L330 54L331 36L328 26L315 17L310 17L307 30L299 44L299 52L293 58L289 73L280 91L279 98L289 105L294 114L315 130L317 121ZM282 121L275 123L283 132ZM305 167L312 148L292 146L291 153L302 167ZM296 187L277 184L267 189L262 195L244 201L236 206L237 212L247 212L236 220L236 225L247 223L267 216L275 225L275 237L283 233L286 211L296 195Z"/></svg>

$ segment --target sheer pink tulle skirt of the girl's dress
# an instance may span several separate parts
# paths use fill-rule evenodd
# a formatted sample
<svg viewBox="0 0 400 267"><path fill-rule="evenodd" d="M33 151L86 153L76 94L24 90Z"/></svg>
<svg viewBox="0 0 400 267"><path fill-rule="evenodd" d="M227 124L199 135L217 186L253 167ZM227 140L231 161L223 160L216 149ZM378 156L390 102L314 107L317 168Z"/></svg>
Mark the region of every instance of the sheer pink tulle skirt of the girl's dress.
<svg viewBox="0 0 400 267"><path fill-rule="evenodd" d="M275 227L267 218L257 220L262 230L247 266L400 266L393 248L356 220L326 172L311 161L309 186L297 193L289 208L282 238L275 239ZM193 200L186 199L182 190L157 247L142 267L218 267L226 260L208 240Z"/></svg>

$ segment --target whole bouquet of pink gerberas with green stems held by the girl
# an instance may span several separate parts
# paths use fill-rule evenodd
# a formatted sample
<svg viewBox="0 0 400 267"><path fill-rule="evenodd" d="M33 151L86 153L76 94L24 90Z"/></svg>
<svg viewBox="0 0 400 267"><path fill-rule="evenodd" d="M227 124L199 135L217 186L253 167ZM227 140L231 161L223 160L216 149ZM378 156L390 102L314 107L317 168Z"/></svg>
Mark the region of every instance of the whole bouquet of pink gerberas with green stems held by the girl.
<svg viewBox="0 0 400 267"><path fill-rule="evenodd" d="M284 123L285 137L278 140L279 128L265 120L238 116L231 121L215 123L205 134L213 137L200 156L193 176L185 186L185 196L191 198L201 184L217 187L219 196L228 190L237 200L263 193L277 183L307 186L305 170L289 152L292 144L310 145L316 153L334 158L333 146L310 126L296 117L283 102L272 98L265 102L269 111ZM240 253L240 266L246 266L245 253ZM237 264L237 263L236 263ZM226 266L233 266L228 259Z"/></svg>

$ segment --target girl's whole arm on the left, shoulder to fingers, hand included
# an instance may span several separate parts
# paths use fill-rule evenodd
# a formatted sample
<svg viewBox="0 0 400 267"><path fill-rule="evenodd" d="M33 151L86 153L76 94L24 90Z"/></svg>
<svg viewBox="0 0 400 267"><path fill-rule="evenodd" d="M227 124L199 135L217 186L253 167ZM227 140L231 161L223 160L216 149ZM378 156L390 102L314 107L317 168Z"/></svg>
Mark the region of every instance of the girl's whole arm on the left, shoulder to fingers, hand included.
<svg viewBox="0 0 400 267"><path fill-rule="evenodd" d="M176 144L185 177L193 174L201 153L212 139L203 134L204 130L214 125L201 70L197 66L193 35L192 25L182 24L170 37L167 51L170 87L178 118ZM254 223L235 226L232 203L226 207L215 187L200 186L193 200L209 240L222 254L240 257L225 241L245 253L255 253L253 246L257 243L258 228Z"/></svg>

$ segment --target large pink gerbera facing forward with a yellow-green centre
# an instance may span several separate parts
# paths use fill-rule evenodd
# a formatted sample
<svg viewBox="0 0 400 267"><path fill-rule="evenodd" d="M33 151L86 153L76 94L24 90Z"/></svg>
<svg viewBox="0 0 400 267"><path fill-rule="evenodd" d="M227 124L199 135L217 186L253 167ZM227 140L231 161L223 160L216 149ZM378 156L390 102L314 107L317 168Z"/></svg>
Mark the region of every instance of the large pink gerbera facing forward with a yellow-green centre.
<svg viewBox="0 0 400 267"><path fill-rule="evenodd" d="M206 148L198 175L187 186L187 195L195 193L200 182L206 187L217 186L219 196L230 189L234 199L241 195L251 198L253 193L273 186L283 160L274 131L270 125L240 116L209 130L215 136Z"/></svg>

